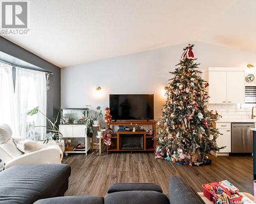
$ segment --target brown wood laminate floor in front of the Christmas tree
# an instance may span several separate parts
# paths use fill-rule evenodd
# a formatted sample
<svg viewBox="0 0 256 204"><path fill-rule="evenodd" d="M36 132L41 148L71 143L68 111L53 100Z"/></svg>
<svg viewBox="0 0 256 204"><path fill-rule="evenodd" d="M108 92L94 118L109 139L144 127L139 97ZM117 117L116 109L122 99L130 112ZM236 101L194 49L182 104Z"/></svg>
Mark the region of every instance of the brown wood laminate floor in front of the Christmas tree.
<svg viewBox="0 0 256 204"><path fill-rule="evenodd" d="M62 163L71 165L69 189L65 195L106 195L114 183L156 183L168 194L172 175L179 175L197 192L201 184L228 180L241 192L253 194L252 157L210 157L212 164L203 167L185 167L154 159L153 153L112 153L95 156L68 155Z"/></svg>

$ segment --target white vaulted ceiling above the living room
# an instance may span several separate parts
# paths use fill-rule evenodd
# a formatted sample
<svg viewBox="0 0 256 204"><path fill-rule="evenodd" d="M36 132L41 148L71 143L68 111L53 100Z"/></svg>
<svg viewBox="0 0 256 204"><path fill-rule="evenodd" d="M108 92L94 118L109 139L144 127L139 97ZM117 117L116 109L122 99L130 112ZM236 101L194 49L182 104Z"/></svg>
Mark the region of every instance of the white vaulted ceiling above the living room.
<svg viewBox="0 0 256 204"><path fill-rule="evenodd" d="M203 41L256 52L255 0L33 0L30 35L3 36L59 66Z"/></svg>

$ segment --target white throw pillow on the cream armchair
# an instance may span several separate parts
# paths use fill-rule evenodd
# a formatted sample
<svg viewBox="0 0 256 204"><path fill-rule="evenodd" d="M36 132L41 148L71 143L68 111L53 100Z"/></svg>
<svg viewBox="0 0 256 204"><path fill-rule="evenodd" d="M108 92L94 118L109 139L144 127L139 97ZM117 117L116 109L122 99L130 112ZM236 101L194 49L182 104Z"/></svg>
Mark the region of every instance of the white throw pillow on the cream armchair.
<svg viewBox="0 0 256 204"><path fill-rule="evenodd" d="M35 151L45 147L44 144L33 141L31 139L13 138L13 142L16 144L16 147L24 153Z"/></svg>

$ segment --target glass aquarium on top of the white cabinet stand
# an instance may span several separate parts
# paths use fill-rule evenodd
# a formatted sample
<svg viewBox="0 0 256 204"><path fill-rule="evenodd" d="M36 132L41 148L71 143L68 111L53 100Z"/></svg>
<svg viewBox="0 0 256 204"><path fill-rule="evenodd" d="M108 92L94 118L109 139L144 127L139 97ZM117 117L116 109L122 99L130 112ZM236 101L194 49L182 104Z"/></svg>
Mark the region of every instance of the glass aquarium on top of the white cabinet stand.
<svg viewBox="0 0 256 204"><path fill-rule="evenodd" d="M83 124L88 109L61 109L61 124Z"/></svg>

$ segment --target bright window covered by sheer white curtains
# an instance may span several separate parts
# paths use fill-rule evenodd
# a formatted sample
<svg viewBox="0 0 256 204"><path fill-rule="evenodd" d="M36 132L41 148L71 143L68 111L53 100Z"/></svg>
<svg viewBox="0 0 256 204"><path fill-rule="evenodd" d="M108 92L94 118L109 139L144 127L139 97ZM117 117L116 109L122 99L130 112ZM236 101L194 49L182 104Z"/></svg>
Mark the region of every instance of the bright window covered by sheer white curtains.
<svg viewBox="0 0 256 204"><path fill-rule="evenodd" d="M0 69L0 122L11 126L13 137L41 140L46 130L37 127L31 138L30 127L45 126L46 118L42 114L28 116L27 112L38 106L46 114L46 73L20 67L14 71L9 65Z"/></svg>

